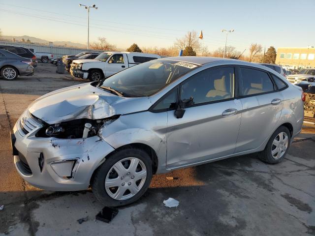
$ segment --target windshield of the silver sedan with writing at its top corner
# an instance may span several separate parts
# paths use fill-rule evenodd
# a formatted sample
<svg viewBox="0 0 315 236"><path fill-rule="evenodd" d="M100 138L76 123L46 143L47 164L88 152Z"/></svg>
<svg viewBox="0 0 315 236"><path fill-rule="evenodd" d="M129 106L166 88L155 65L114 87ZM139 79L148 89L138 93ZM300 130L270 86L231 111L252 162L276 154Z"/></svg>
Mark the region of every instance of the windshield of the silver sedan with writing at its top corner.
<svg viewBox="0 0 315 236"><path fill-rule="evenodd" d="M198 65L175 60L152 60L123 70L99 85L128 97L151 96Z"/></svg>

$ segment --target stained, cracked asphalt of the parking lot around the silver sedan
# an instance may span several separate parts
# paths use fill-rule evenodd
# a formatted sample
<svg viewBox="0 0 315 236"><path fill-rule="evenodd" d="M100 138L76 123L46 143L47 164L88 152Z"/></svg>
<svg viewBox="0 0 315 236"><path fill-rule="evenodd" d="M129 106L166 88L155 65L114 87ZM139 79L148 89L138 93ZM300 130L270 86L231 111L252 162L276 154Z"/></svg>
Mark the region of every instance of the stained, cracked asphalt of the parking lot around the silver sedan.
<svg viewBox="0 0 315 236"><path fill-rule="evenodd" d="M303 127L277 165L251 154L156 175L147 193L120 207L109 224L95 220L104 206L91 190L32 187L13 165L10 128L40 95L88 82L55 71L52 64L38 63L33 76L0 79L0 236L315 235L314 127ZM169 197L179 206L164 207ZM88 221L77 222L86 216Z"/></svg>

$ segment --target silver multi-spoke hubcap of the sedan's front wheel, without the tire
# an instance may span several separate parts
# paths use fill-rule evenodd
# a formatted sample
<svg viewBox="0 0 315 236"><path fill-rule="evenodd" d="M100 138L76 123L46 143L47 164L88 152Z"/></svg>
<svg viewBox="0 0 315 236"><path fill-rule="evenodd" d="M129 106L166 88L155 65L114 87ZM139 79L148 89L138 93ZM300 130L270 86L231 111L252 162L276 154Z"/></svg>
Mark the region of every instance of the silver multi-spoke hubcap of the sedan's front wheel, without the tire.
<svg viewBox="0 0 315 236"><path fill-rule="evenodd" d="M127 157L115 163L105 178L105 190L115 200L127 200L136 195L147 178L145 164Z"/></svg>

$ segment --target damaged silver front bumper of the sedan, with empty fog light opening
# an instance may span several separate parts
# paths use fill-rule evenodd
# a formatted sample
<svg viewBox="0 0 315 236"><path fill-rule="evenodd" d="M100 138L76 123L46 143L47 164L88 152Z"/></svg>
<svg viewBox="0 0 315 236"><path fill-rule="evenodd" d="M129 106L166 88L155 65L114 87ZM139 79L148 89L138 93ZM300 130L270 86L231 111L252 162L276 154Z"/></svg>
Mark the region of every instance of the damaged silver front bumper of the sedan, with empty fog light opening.
<svg viewBox="0 0 315 236"><path fill-rule="evenodd" d="M112 152L98 136L86 139L38 138L25 134L20 119L11 131L14 164L27 182L52 191L87 189L95 169Z"/></svg>

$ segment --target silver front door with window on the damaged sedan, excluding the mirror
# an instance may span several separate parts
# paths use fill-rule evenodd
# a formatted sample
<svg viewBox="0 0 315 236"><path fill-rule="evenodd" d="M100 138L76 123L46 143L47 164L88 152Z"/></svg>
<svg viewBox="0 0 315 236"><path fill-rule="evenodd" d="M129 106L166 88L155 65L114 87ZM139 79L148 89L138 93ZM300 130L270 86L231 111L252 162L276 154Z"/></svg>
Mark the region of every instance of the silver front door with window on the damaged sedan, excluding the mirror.
<svg viewBox="0 0 315 236"><path fill-rule="evenodd" d="M180 86L180 100L192 99L183 118L168 111L167 168L202 163L234 153L242 110L235 97L234 67L196 73Z"/></svg>

